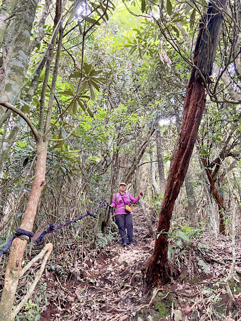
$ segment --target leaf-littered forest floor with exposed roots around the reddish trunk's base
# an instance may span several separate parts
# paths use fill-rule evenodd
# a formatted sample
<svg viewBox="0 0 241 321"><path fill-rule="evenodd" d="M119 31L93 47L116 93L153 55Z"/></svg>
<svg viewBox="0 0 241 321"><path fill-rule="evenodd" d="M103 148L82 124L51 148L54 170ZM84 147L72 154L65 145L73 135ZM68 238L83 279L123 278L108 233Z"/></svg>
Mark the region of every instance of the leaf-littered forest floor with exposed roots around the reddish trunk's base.
<svg viewBox="0 0 241 321"><path fill-rule="evenodd" d="M173 225L180 230L180 222ZM147 232L142 209L135 207L134 247L122 247L115 238L103 248L80 246L75 260L66 253L57 257L56 269L46 268L41 278L42 288L47 283L42 295L48 305L40 320L241 320L239 274L235 272L230 284L235 299L231 307L223 283L232 260L229 236L220 235L216 241L202 232L190 239L182 231L181 240L170 240L179 277L147 293L144 267L154 246L154 236L144 238ZM236 263L241 266L239 244Z"/></svg>

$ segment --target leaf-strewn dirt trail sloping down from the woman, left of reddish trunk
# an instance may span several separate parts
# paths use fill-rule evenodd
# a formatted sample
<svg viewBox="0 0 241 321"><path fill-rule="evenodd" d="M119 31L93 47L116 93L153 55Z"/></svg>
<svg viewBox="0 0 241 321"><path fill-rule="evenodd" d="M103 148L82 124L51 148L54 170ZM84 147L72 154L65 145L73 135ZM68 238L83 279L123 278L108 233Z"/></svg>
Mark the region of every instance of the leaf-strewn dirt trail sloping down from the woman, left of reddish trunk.
<svg viewBox="0 0 241 321"><path fill-rule="evenodd" d="M40 320L122 321L134 317L146 303L141 269L152 251L152 240L143 240L147 233L142 209L135 207L134 247L123 247L116 238L104 248L88 249L84 267L81 260L71 267L69 282L61 283L60 275L56 282L53 273L45 276L51 304Z"/></svg>

